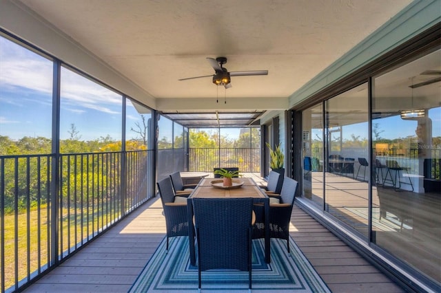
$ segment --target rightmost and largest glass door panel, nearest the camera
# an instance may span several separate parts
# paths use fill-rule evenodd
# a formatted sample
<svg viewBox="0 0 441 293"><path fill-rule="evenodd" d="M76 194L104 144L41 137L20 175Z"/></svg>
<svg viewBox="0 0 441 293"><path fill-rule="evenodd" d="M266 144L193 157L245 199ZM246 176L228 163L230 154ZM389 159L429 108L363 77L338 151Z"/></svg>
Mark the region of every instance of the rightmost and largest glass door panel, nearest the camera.
<svg viewBox="0 0 441 293"><path fill-rule="evenodd" d="M375 243L441 283L441 51L374 78Z"/></svg>

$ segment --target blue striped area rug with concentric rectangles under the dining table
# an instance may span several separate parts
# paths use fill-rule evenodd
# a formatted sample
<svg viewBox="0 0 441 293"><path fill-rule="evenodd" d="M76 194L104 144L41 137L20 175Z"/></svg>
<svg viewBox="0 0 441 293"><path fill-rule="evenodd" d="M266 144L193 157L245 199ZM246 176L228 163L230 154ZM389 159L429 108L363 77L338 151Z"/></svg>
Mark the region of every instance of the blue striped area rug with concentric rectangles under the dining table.
<svg viewBox="0 0 441 293"><path fill-rule="evenodd" d="M331 292L290 239L271 239L271 263L265 263L263 239L253 240L252 292ZM198 268L189 263L188 237L165 239L145 265L129 292L198 292ZM248 292L248 272L202 272L202 292Z"/></svg>

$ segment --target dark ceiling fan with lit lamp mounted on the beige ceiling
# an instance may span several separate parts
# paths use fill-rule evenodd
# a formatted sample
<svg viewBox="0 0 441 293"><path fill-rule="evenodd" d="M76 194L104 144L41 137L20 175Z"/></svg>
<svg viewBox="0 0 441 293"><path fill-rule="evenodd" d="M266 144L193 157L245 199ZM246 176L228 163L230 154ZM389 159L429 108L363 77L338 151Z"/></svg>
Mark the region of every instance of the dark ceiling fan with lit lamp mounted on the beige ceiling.
<svg viewBox="0 0 441 293"><path fill-rule="evenodd" d="M215 85L223 85L225 89L232 87L231 84L231 76L252 76L252 75L268 75L268 70L252 70L245 72L228 72L227 68L223 67L225 63L227 63L227 58L218 57L207 58L207 61L210 65L212 65L214 69L214 74L205 75L205 76L194 76L189 78L181 78L179 80L189 80L194 78L203 78L208 76L213 76L213 83Z"/></svg>

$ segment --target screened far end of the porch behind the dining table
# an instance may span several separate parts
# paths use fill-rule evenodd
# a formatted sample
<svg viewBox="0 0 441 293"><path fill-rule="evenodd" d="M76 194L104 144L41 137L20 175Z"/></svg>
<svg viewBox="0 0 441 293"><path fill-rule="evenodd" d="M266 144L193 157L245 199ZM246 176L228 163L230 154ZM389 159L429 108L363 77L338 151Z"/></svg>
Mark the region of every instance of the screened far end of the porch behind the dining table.
<svg viewBox="0 0 441 293"><path fill-rule="evenodd" d="M186 120L186 124L196 124L197 116L195 119ZM216 167L238 167L241 173L260 173L260 129L246 125L189 128L161 117L158 121L158 180L174 171L213 172Z"/></svg>

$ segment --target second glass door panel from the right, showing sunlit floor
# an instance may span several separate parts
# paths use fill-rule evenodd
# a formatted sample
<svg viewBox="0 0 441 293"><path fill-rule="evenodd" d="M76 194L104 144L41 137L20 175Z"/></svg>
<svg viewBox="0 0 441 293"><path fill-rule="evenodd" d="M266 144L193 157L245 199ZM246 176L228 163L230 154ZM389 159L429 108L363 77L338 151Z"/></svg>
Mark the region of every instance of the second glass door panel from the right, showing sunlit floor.
<svg viewBox="0 0 441 293"><path fill-rule="evenodd" d="M363 237L369 219L367 83L325 101L325 210Z"/></svg>

